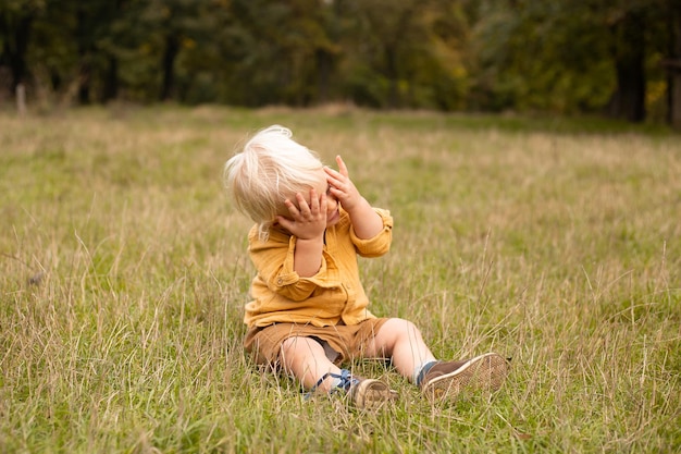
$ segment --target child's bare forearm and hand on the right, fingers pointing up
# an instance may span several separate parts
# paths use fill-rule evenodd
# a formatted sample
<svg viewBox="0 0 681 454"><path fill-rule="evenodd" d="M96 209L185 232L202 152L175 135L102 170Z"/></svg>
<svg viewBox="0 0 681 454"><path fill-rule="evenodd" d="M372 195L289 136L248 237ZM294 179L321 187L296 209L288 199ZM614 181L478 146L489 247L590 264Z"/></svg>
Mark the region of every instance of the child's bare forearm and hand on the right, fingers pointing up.
<svg viewBox="0 0 681 454"><path fill-rule="evenodd" d="M383 230L383 220L352 184L340 156L336 156L336 162L338 163L337 172L331 168L324 168L330 184L329 191L350 216L355 234L359 238L372 238Z"/></svg>

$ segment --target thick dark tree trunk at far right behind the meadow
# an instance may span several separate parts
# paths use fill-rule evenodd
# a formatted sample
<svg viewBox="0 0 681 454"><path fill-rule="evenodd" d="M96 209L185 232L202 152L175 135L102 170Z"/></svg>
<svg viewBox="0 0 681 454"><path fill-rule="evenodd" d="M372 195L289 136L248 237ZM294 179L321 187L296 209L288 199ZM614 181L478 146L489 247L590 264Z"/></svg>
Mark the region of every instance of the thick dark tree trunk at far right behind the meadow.
<svg viewBox="0 0 681 454"><path fill-rule="evenodd" d="M645 120L645 19L630 11L614 27L617 88L610 100L610 114L631 122Z"/></svg>

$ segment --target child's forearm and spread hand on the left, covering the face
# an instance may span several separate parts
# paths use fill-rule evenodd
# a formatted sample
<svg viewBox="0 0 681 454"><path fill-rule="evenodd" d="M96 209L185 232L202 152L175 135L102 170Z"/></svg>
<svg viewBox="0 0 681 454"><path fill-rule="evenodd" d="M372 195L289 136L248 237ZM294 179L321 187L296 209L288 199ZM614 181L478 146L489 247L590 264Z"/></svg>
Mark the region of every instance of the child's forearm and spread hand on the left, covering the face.
<svg viewBox="0 0 681 454"><path fill-rule="evenodd" d="M310 189L310 204L300 193L296 194L296 206L286 199L285 204L290 219L277 217L278 223L296 237L294 253L294 271L301 278L309 278L319 271L322 265L324 248L324 230L326 229L326 194L317 195Z"/></svg>

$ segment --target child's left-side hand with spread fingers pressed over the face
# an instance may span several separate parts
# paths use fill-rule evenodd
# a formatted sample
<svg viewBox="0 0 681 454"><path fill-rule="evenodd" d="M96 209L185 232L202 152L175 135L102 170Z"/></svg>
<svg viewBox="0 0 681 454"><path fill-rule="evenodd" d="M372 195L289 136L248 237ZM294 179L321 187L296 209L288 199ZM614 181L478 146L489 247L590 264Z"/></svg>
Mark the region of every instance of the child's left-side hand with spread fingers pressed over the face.
<svg viewBox="0 0 681 454"><path fill-rule="evenodd" d="M310 204L300 193L296 194L296 201L298 206L289 199L284 201L290 219L277 216L278 223L299 240L323 236L326 229L326 194L320 196L317 191L310 189Z"/></svg>

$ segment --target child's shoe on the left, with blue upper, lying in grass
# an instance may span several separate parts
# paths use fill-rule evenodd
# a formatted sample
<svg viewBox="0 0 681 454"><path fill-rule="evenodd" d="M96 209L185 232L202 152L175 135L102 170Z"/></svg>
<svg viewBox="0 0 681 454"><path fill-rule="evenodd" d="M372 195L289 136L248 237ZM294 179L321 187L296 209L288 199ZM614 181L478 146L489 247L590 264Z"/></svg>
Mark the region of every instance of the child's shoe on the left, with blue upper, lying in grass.
<svg viewBox="0 0 681 454"><path fill-rule="evenodd" d="M338 386L331 390L330 394L344 392L352 402L352 404L360 409L376 409L383 406L386 402L395 401L397 398L397 391L391 390L387 384L381 380L366 379L359 376L354 376L349 370L342 369L340 375L325 373L312 390L308 393L308 396L312 395L315 389L323 383L329 377L337 378L340 380Z"/></svg>

